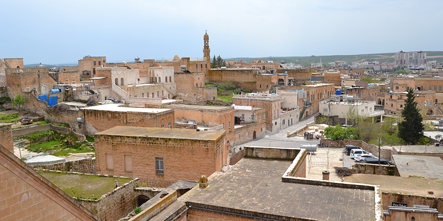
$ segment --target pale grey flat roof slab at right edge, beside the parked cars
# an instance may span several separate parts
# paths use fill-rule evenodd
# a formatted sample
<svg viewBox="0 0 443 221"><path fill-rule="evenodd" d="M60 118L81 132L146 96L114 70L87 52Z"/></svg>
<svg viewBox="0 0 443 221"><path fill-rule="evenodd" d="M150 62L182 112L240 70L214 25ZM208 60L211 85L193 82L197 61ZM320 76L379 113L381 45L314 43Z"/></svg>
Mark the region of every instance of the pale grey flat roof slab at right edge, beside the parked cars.
<svg viewBox="0 0 443 221"><path fill-rule="evenodd" d="M443 180L443 160L439 157L393 154L392 159L402 177Z"/></svg>

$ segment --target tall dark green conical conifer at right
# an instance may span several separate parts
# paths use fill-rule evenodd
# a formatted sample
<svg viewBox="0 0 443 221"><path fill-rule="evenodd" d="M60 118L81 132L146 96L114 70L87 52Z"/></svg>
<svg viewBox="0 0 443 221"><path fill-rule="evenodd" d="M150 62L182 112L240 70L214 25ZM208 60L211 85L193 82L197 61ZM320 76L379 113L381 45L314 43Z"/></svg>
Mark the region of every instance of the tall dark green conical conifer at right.
<svg viewBox="0 0 443 221"><path fill-rule="evenodd" d="M408 94L402 110L403 120L398 124L398 136L407 144L415 144L423 136L423 117L417 108L414 91L412 88L406 91Z"/></svg>

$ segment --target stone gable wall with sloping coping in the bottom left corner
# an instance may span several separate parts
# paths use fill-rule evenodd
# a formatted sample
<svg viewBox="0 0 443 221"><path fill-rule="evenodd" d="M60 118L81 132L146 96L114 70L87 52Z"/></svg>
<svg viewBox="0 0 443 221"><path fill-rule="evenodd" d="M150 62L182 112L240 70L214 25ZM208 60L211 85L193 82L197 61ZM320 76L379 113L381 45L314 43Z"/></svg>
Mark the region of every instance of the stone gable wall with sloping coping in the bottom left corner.
<svg viewBox="0 0 443 221"><path fill-rule="evenodd" d="M0 221L101 220L0 144Z"/></svg>

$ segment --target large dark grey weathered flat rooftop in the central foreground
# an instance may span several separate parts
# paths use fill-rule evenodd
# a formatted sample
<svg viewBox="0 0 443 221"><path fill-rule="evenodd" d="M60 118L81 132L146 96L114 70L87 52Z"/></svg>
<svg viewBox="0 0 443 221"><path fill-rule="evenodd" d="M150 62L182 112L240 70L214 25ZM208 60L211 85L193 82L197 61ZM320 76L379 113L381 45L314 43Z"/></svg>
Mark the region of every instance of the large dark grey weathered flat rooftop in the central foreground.
<svg viewBox="0 0 443 221"><path fill-rule="evenodd" d="M180 199L191 208L274 219L374 220L374 190L281 182L289 165L290 161L243 158L228 172L213 173L208 187L195 187Z"/></svg>

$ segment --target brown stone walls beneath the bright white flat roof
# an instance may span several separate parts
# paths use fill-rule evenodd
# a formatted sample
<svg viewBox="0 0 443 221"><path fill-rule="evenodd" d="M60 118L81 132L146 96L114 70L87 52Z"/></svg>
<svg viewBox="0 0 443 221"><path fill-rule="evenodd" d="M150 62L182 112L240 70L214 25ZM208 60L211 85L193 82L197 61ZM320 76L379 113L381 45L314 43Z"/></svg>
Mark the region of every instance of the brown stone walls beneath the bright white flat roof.
<svg viewBox="0 0 443 221"><path fill-rule="evenodd" d="M134 108L135 109L135 108ZM85 118L86 133L96 134L117 126L174 128L174 111L161 113L113 112L82 109Z"/></svg>

